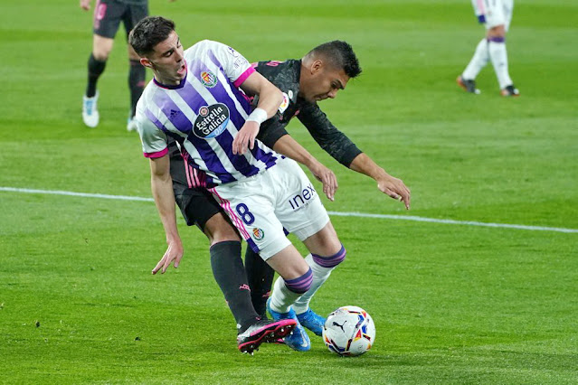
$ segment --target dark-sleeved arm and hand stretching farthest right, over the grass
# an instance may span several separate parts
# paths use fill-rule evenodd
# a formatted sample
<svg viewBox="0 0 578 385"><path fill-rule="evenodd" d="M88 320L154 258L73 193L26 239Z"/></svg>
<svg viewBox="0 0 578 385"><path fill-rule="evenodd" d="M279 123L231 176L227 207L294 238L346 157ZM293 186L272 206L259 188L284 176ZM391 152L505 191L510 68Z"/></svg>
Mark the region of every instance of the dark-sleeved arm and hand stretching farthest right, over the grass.
<svg viewBox="0 0 578 385"><path fill-rule="evenodd" d="M392 197L401 200L407 210L410 209L410 190L402 180L387 174L375 164L373 159L361 152L344 133L339 131L315 104L301 109L298 119L307 127L309 133L327 153L337 162L357 173L365 174L377 182L377 188Z"/></svg>

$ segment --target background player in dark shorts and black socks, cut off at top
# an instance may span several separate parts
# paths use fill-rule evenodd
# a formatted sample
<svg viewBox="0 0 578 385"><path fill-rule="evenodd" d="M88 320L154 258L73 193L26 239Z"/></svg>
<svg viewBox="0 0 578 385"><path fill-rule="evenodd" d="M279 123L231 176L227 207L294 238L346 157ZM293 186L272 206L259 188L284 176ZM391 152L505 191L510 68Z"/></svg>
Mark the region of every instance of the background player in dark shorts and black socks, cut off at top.
<svg viewBox="0 0 578 385"><path fill-rule="evenodd" d="M80 0L81 8L90 10L91 0ZM170 0L173 1L173 0ZM125 31L130 33L132 28L148 15L148 0L96 0L94 5L94 17L92 25L92 52L88 62L88 82L82 98L82 120L88 127L99 125L99 110L97 102L99 92L97 82L104 71L109 54L112 51L114 37L118 32L120 22L125 26ZM138 98L145 88L146 71L140 65L140 58L132 47L128 46L128 89L130 89L130 107L128 112L128 131L137 129L135 108Z"/></svg>

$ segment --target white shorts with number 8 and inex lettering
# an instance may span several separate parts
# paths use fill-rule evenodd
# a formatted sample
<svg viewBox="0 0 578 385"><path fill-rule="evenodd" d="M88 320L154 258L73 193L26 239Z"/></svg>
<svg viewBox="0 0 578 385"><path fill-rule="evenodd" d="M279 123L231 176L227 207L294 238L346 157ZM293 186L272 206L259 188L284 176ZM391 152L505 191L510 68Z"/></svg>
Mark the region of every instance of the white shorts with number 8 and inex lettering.
<svg viewBox="0 0 578 385"><path fill-rule="evenodd" d="M329 216L301 167L281 158L265 172L209 190L251 249L267 259L323 229Z"/></svg>

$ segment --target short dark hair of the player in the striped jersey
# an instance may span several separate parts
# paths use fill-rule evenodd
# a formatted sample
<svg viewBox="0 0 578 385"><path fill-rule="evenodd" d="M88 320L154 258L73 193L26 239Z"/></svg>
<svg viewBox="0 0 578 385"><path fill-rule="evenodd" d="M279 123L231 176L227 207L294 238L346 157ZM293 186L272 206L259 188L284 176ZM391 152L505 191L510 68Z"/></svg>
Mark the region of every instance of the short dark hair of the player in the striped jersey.
<svg viewBox="0 0 578 385"><path fill-rule="evenodd" d="M172 20L162 16L148 16L130 31L128 43L138 56L145 56L155 51L156 44L166 41L173 31L175 31L175 22Z"/></svg>

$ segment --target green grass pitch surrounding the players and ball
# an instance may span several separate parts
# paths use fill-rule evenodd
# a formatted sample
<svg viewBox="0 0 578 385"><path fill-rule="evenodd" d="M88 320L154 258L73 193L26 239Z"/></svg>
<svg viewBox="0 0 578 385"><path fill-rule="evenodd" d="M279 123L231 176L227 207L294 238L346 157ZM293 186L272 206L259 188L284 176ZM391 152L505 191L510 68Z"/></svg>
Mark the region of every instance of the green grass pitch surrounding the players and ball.
<svg viewBox="0 0 578 385"><path fill-rule="evenodd" d="M351 42L364 68L322 108L412 188L409 214L578 229L578 5L516 4L507 37L519 99L455 77L483 34L468 1L151 2L188 47L209 38L251 61ZM75 3L5 0L0 15L0 186L150 196L128 113L122 33L99 81L101 123L81 123L90 14ZM150 79L150 73L148 73ZM337 174L330 211L404 214L368 178L289 131ZM316 183L319 187L319 184ZM0 381L572 383L578 376L576 234L333 217L348 249L317 312L360 305L371 352L236 351L207 242L180 221L181 268L151 202L0 192ZM303 250L302 248L300 248Z"/></svg>

